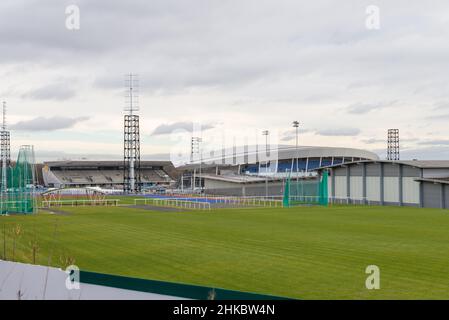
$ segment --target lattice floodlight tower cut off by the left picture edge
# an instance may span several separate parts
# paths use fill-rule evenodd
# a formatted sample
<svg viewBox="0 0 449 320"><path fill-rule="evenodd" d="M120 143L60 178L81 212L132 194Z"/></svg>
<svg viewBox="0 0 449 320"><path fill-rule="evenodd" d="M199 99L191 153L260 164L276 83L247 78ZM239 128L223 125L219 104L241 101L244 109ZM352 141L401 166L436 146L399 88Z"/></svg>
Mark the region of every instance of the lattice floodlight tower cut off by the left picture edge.
<svg viewBox="0 0 449 320"><path fill-rule="evenodd" d="M2 177L1 177L1 211L2 213L7 213L4 210L4 204L8 201L8 176L7 168L11 162L11 148L10 148L10 134L6 127L6 102L3 101L3 119L2 128L0 131L0 157L2 161Z"/></svg>

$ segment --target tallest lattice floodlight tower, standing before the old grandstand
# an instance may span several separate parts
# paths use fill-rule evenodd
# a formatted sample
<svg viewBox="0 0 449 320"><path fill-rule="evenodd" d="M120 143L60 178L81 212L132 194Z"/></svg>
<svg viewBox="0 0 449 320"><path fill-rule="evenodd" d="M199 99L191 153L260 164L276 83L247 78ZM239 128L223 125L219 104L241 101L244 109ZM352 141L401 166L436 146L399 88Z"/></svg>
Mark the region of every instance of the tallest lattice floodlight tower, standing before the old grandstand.
<svg viewBox="0 0 449 320"><path fill-rule="evenodd" d="M138 79L135 74L125 77L126 106L124 116L123 146L123 191L138 193L141 191L140 180L140 128Z"/></svg>

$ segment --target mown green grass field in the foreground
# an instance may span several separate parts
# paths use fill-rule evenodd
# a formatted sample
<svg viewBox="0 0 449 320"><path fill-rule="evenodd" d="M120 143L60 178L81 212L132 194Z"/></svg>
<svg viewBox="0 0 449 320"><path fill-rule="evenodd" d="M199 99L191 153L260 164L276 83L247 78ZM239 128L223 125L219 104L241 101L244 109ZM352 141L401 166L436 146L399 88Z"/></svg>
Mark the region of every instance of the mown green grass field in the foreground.
<svg viewBox="0 0 449 320"><path fill-rule="evenodd" d="M297 207L155 212L64 209L0 217L20 224L16 258L81 269L302 299L449 299L449 211ZM52 254L50 254L52 253ZM7 258L12 238L7 237ZM367 290L377 265L381 289Z"/></svg>

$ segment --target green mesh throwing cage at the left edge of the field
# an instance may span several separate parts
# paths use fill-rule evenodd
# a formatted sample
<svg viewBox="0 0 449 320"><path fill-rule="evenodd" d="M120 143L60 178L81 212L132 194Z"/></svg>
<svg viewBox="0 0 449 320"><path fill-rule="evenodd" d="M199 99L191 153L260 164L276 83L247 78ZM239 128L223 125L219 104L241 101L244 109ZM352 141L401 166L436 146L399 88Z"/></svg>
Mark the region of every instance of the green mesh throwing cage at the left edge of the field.
<svg viewBox="0 0 449 320"><path fill-rule="evenodd" d="M1 164L0 164L1 167ZM6 168L6 186L3 169L0 168L0 213L33 213L34 198L34 152L32 147L20 148L17 162Z"/></svg>

